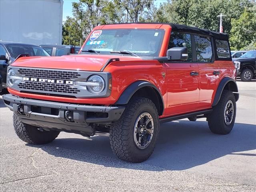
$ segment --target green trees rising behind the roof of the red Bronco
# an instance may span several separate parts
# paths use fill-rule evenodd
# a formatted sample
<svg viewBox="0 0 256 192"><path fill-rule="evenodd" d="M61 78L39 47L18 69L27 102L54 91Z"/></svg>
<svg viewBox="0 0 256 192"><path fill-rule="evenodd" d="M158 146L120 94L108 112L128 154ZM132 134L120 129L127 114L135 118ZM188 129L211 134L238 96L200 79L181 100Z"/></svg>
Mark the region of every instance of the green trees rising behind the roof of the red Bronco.
<svg viewBox="0 0 256 192"><path fill-rule="evenodd" d="M172 22L219 30L220 13L232 49L256 44L255 0L168 0L157 8L154 0L80 0L73 2L73 16L63 24L63 43L82 42L101 24L122 22Z"/></svg>

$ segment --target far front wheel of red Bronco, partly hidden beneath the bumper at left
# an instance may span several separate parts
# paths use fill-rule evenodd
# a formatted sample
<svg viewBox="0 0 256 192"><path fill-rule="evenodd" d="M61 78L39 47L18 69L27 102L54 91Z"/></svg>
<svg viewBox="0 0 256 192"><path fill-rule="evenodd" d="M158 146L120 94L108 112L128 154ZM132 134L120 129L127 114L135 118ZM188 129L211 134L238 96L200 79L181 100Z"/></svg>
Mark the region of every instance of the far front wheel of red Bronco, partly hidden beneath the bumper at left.
<svg viewBox="0 0 256 192"><path fill-rule="evenodd" d="M18 137L30 144L46 144L52 142L59 131L44 131L42 128L22 123L17 114L13 114L13 126Z"/></svg>

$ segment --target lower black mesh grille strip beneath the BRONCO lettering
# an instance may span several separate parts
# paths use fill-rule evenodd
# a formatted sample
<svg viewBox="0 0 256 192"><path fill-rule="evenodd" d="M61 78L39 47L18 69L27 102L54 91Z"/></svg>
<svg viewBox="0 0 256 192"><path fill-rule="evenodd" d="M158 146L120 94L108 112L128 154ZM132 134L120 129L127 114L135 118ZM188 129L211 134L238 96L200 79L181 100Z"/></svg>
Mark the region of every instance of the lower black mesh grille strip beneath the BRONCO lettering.
<svg viewBox="0 0 256 192"><path fill-rule="evenodd" d="M78 94L80 90L78 88L71 87L70 85L56 84L56 83L40 83L25 81L18 84L20 89L25 90L38 90L38 91L49 91L58 93L72 93Z"/></svg>

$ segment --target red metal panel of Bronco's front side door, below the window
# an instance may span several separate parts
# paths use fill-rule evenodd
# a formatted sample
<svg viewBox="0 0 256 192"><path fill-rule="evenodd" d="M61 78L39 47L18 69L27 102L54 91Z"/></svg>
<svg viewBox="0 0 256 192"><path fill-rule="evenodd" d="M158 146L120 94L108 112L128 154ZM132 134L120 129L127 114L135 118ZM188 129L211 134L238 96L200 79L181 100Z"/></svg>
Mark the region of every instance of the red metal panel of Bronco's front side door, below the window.
<svg viewBox="0 0 256 192"><path fill-rule="evenodd" d="M187 113L198 108L199 68L191 63L166 63L167 109L165 115Z"/></svg>

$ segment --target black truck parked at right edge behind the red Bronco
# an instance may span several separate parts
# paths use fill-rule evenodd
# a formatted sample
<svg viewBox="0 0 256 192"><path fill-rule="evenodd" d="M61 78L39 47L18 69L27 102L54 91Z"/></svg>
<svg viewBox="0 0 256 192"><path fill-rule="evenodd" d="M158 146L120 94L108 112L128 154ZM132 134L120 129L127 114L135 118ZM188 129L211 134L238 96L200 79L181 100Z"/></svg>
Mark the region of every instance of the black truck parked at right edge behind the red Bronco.
<svg viewBox="0 0 256 192"><path fill-rule="evenodd" d="M248 51L232 60L242 81L250 81L256 76L256 50Z"/></svg>

